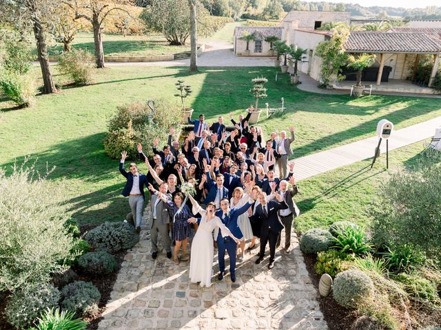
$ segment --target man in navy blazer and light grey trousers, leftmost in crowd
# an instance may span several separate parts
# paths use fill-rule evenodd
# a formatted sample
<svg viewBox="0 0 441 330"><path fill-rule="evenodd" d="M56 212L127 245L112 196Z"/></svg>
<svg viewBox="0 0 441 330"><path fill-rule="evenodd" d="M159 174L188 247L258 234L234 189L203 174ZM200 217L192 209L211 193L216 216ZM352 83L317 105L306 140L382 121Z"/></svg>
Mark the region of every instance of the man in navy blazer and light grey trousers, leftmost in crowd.
<svg viewBox="0 0 441 330"><path fill-rule="evenodd" d="M147 177L138 172L138 166L135 163L130 163L130 173L124 169L124 162L127 158L127 151L121 153L121 162L119 162L119 171L127 179L123 192L124 197L129 197L129 205L132 209L134 223L136 224L136 232L141 232L141 220L143 217L144 206L144 186L147 188Z"/></svg>

